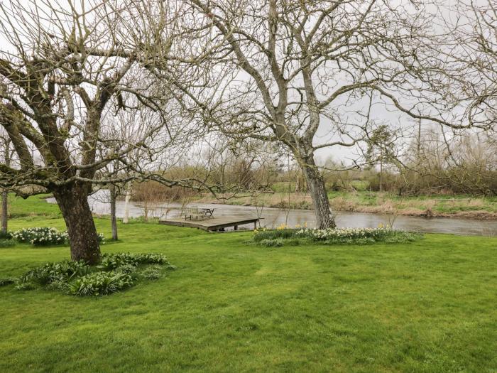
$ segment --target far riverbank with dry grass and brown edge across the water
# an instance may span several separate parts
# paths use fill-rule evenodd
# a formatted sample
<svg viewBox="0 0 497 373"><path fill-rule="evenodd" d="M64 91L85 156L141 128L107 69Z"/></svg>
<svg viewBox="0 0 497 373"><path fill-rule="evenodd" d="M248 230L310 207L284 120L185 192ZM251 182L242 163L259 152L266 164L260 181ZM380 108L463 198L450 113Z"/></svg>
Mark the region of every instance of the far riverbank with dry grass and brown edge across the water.
<svg viewBox="0 0 497 373"><path fill-rule="evenodd" d="M237 206L277 207L312 210L312 200L306 193L258 193L227 199L202 195L192 202ZM338 212L363 212L413 217L461 217L477 220L497 220L497 198L469 195L422 195L399 197L388 193L367 191L329 193L332 209Z"/></svg>

